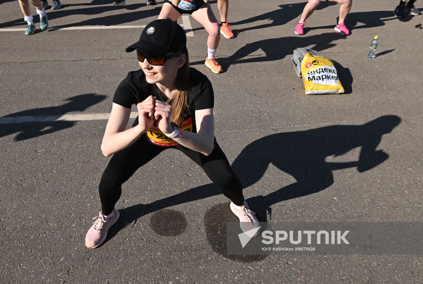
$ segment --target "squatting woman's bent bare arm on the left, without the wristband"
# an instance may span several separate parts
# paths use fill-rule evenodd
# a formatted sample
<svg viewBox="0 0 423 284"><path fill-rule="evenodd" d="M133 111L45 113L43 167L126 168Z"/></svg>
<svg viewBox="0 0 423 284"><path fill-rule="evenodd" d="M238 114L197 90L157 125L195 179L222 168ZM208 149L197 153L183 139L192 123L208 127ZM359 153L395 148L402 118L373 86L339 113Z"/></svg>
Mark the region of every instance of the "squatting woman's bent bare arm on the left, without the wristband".
<svg viewBox="0 0 423 284"><path fill-rule="evenodd" d="M131 109L113 103L112 112L107 121L102 142L102 153L108 157L132 145L141 135L146 133L154 123L154 98L148 97L137 104L139 123L137 126L125 130ZM150 118L152 117L152 118Z"/></svg>

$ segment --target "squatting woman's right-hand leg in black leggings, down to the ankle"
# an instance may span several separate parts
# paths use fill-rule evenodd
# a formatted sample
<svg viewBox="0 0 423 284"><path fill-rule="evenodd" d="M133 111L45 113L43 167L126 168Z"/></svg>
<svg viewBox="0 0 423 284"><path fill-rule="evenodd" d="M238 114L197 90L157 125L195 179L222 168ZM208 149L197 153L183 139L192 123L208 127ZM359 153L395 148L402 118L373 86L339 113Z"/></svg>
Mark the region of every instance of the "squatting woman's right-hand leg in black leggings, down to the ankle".
<svg viewBox="0 0 423 284"><path fill-rule="evenodd" d="M244 195L242 194L242 184L239 178L233 172L231 165L223 153L216 138L214 139L214 148L209 156L205 156L197 151L188 149L181 145L176 149L182 151L192 161L197 163L206 172L206 175L213 183L216 183L223 190L223 194L231 199L238 206L244 203Z"/></svg>

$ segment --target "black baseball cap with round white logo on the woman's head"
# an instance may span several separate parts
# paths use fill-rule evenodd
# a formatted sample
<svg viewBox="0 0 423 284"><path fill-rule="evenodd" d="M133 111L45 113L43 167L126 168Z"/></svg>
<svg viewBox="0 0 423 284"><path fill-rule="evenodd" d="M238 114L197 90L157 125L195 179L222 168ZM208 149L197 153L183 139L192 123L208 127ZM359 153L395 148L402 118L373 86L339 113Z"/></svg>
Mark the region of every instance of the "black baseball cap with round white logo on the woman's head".
<svg viewBox="0 0 423 284"><path fill-rule="evenodd" d="M159 19L146 25L140 40L126 47L126 52L138 49L140 52L158 57L169 52L184 52L187 35L184 29L171 19Z"/></svg>

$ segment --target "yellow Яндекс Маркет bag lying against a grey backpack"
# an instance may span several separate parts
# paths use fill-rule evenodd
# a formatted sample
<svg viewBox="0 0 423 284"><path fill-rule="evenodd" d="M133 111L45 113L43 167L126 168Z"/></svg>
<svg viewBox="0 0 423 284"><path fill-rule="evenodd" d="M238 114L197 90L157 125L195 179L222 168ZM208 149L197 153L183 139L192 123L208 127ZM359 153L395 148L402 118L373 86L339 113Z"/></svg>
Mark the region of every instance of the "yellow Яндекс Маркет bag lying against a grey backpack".
<svg viewBox="0 0 423 284"><path fill-rule="evenodd" d="M301 74L307 95L340 94L344 92L332 60L324 56L304 55Z"/></svg>

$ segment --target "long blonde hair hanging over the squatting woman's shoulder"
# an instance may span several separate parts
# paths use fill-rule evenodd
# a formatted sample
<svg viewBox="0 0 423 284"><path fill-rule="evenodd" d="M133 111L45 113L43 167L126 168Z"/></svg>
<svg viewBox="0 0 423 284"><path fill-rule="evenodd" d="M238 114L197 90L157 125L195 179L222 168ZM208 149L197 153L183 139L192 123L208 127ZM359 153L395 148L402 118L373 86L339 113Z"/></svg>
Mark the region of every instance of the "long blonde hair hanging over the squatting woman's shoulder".
<svg viewBox="0 0 423 284"><path fill-rule="evenodd" d="M188 94L190 93L190 60L188 59L188 49L186 46L181 53L185 54L187 61L178 70L178 74L176 75L176 90L172 98L168 100L168 103L172 106L170 121L176 123L179 127L182 127L182 123L184 122L185 109L188 107Z"/></svg>

